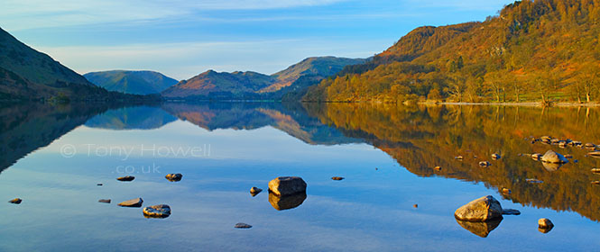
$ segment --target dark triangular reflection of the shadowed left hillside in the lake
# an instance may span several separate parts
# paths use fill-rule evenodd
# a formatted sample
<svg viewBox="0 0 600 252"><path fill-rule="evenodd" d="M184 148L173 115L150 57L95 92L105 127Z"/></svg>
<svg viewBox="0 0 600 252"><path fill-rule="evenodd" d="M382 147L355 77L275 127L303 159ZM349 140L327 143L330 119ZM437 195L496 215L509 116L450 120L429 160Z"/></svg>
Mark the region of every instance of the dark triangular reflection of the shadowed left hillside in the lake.
<svg viewBox="0 0 600 252"><path fill-rule="evenodd" d="M17 104L0 108L0 171L75 129L106 108L83 104Z"/></svg>

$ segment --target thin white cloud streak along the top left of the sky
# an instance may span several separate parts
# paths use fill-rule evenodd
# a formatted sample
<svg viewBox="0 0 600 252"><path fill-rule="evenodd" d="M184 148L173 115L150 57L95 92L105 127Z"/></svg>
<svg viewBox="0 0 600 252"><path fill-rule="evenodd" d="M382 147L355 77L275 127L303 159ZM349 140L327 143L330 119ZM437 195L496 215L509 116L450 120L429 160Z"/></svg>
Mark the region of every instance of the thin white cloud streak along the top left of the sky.
<svg viewBox="0 0 600 252"><path fill-rule="evenodd" d="M264 10L346 0L3 0L0 23L11 31L198 16L215 10Z"/></svg>

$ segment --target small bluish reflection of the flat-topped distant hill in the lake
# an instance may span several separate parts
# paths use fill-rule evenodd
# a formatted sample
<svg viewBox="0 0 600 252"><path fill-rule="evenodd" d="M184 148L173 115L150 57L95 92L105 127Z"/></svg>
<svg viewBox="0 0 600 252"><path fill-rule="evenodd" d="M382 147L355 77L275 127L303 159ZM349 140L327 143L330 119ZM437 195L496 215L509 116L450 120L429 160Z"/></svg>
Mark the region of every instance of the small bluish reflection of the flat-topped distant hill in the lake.
<svg viewBox="0 0 600 252"><path fill-rule="evenodd" d="M152 130L177 118L158 107L123 107L98 114L86 126L108 130Z"/></svg>

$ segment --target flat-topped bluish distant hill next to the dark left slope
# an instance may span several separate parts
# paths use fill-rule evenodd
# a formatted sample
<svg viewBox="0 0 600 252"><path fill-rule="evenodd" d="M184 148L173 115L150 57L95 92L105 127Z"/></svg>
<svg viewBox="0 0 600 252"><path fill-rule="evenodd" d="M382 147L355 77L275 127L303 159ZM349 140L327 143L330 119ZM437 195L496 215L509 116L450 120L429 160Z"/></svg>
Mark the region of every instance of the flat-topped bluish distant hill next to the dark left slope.
<svg viewBox="0 0 600 252"><path fill-rule="evenodd" d="M125 94L158 94L178 82L152 71L113 70L91 72L83 76L94 85Z"/></svg>

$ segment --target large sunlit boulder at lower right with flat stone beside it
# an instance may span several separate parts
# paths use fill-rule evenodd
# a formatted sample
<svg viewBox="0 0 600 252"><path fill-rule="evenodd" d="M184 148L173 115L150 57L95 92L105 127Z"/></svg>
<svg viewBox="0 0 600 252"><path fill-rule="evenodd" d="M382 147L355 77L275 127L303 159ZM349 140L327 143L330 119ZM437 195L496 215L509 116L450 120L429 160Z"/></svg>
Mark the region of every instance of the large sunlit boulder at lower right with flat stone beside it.
<svg viewBox="0 0 600 252"><path fill-rule="evenodd" d="M454 212L457 220L466 221L487 221L502 219L502 205L492 195L487 195L468 202Z"/></svg>

